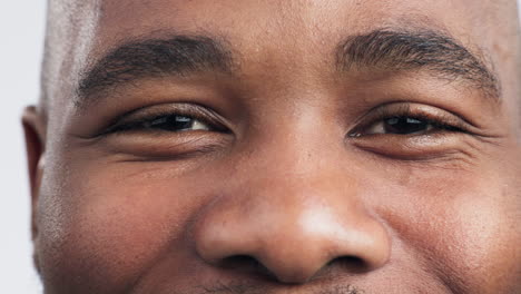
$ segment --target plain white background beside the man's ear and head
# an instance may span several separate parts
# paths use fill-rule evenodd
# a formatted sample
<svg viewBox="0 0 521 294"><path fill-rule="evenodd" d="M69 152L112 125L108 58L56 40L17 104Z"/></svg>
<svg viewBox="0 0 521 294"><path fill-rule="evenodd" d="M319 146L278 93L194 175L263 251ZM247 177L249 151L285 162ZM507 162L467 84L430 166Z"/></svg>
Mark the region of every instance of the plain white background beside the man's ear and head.
<svg viewBox="0 0 521 294"><path fill-rule="evenodd" d="M20 115L23 106L35 104L39 95L45 2L0 1L0 293L6 294L42 292L31 261Z"/></svg>

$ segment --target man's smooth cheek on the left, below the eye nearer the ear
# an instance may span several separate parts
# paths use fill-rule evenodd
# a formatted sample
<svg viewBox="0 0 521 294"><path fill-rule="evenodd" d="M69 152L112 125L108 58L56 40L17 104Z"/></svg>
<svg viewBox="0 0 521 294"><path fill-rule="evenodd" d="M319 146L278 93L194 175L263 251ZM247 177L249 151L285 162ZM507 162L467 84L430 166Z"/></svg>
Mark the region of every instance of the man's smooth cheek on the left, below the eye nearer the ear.
<svg viewBox="0 0 521 294"><path fill-rule="evenodd" d="M95 170L99 165L92 164L50 176L49 183L62 185L42 193L40 209L48 213L38 244L42 277L57 292L118 293L169 247L187 248L188 212L201 198L193 187L198 182L144 165Z"/></svg>

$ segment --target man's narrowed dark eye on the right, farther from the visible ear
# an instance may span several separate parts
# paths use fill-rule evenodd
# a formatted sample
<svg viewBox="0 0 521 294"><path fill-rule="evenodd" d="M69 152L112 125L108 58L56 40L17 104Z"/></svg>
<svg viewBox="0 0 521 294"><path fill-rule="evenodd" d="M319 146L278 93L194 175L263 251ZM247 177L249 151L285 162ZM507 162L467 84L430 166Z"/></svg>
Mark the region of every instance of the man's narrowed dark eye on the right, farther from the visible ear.
<svg viewBox="0 0 521 294"><path fill-rule="evenodd" d="M420 159L465 148L474 127L439 107L396 102L368 111L348 133L354 145L393 158Z"/></svg>

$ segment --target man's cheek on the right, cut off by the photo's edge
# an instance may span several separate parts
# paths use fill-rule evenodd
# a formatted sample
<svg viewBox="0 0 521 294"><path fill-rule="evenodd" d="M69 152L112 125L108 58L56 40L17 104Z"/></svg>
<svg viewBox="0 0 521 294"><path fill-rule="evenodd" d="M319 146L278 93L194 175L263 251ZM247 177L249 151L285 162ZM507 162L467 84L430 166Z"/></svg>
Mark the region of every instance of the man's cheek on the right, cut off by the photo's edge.
<svg viewBox="0 0 521 294"><path fill-rule="evenodd" d="M390 226L444 284L463 293L519 286L519 197L499 173L411 173L406 184L384 186L393 187L382 192Z"/></svg>

